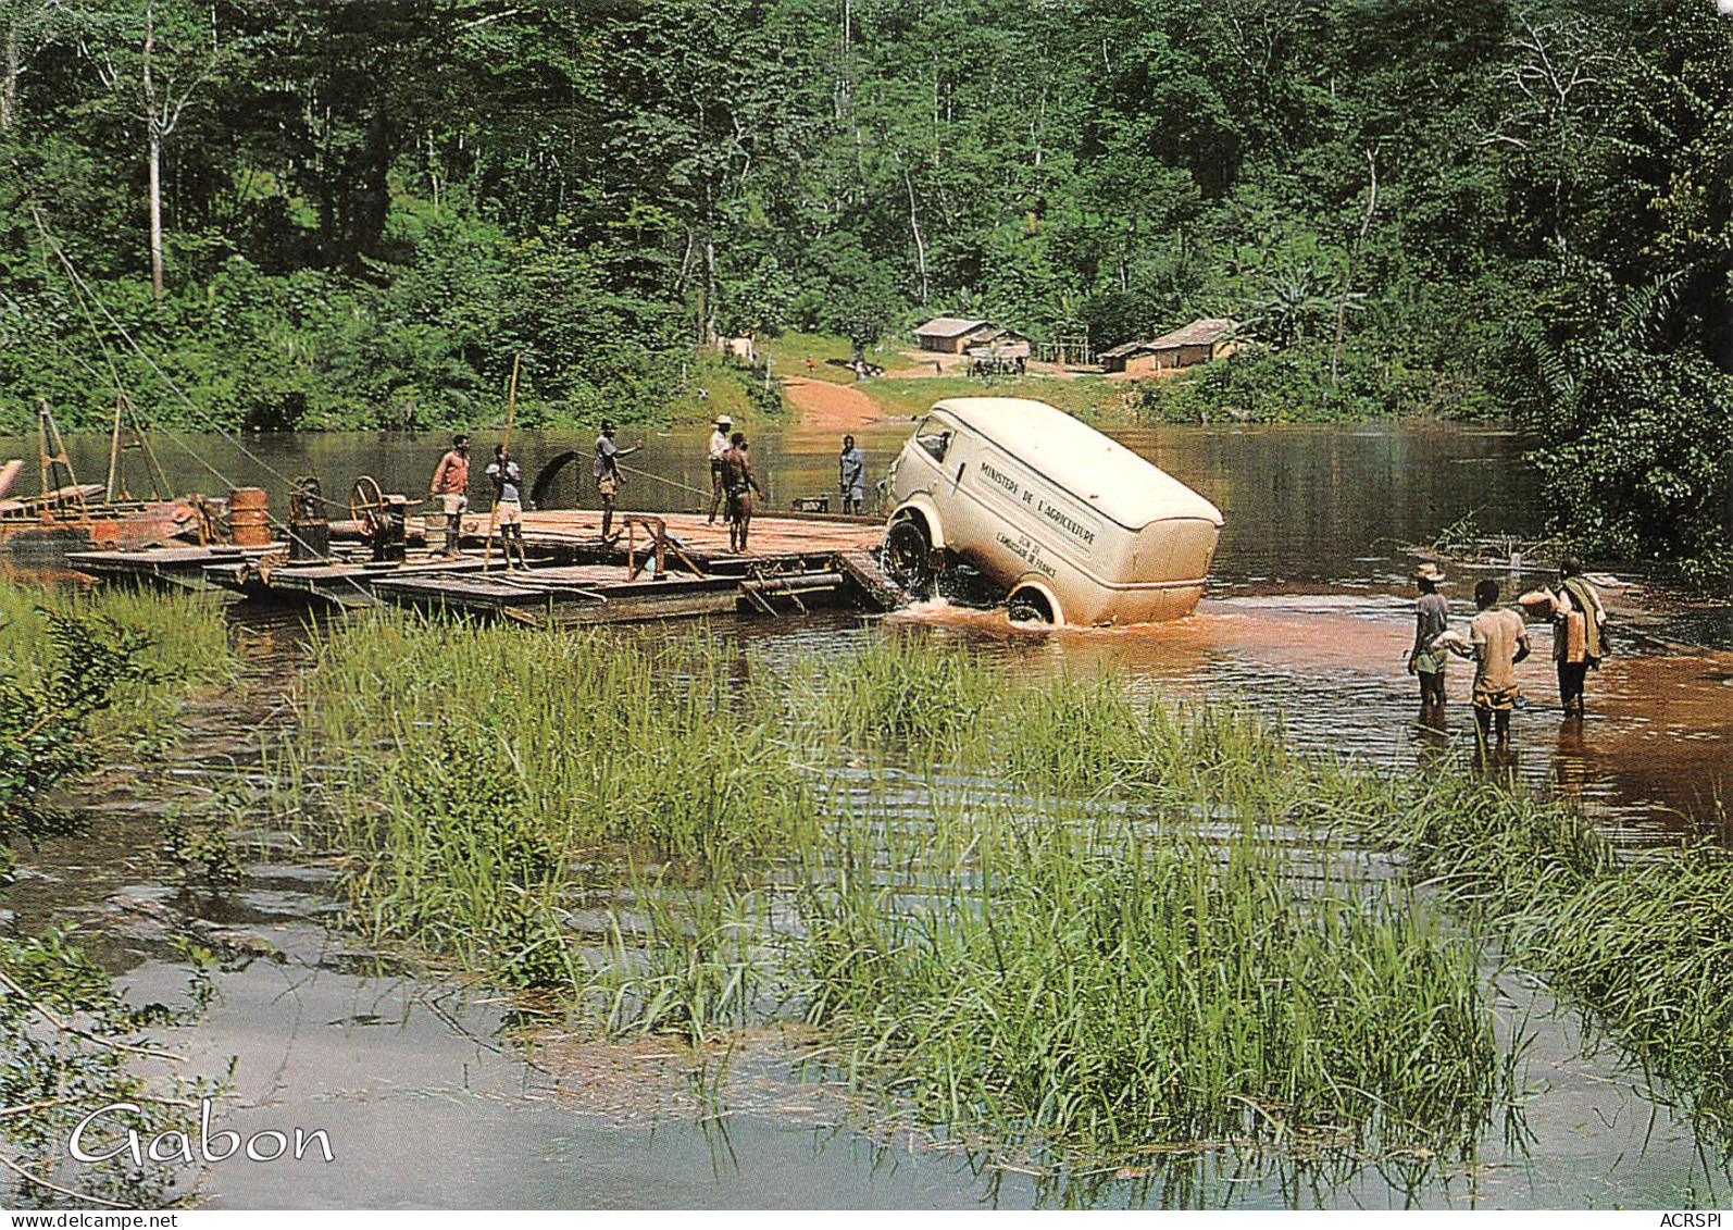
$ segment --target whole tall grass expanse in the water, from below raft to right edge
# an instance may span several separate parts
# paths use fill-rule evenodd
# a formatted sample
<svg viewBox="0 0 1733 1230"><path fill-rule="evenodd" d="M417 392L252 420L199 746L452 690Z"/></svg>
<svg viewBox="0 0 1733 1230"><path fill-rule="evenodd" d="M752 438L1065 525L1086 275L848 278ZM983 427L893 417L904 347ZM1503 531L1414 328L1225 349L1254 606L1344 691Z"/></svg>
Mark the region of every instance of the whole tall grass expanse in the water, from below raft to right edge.
<svg viewBox="0 0 1733 1230"><path fill-rule="evenodd" d="M1629 864L1489 780L964 650L886 636L778 674L702 631L376 613L317 644L284 780L371 934L607 1029L802 1015L939 1119L1109 1150L1236 1123L1461 1143L1513 1081L1485 927L1704 1105L1730 1071L1721 854ZM1400 851L1452 927L1338 842Z"/></svg>

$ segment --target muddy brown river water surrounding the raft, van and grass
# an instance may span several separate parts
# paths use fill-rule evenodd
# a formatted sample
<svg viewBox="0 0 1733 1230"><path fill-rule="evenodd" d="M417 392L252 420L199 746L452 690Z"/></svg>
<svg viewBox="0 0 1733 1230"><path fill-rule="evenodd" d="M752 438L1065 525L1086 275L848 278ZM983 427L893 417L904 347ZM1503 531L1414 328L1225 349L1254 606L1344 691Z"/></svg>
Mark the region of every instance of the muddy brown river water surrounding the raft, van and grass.
<svg viewBox="0 0 1733 1230"><path fill-rule="evenodd" d="M882 475L906 423L861 435ZM884 620L830 612L730 629L776 660L844 653L861 638L908 634L965 641L1029 674L1116 676L1135 691L1234 696L1281 712L1303 747L1421 771L1471 747L1468 669L1454 664L1444 729L1419 726L1402 672L1412 615L1404 542L1426 542L1466 515L1480 534L1541 530L1522 442L1504 431L1418 424L1341 428L1163 428L1116 431L1220 506L1227 528L1210 594L1192 618L1152 629L1026 631L1002 613L943 601ZM626 502L691 508L707 485L704 433L648 433L629 463ZM490 450L480 433L477 456ZM622 443L638 443L624 433ZM587 437L516 433L535 466ZM243 452L220 438L159 443L180 489L217 480L263 485L282 511L281 476L317 473L328 492L357 473L419 494L440 437L334 433L251 437ZM0 456L33 456L0 438ZM754 438L773 504L828 494L837 442L797 428ZM101 476L106 440L73 447L80 476ZM133 490L140 489L133 478ZM560 499L575 492L568 469ZM31 568L43 561L21 560ZM1591 565L1593 566L1593 565ZM1620 580L1636 577L1615 575ZM1527 586L1539 577L1506 577ZM1468 613L1475 573L1456 573L1452 617ZM1723 826L1733 767L1733 613L1639 589L1608 591L1615 615L1639 631L1591 677L1589 717L1567 724L1549 683L1548 632L1523 679L1516 771L1582 799L1608 832L1672 840L1688 818ZM1501 1017L1529 1015L1527 1138L1489 1131L1470 1164L1414 1159L1296 1161L1211 1150L1144 1175L1029 1175L922 1133L863 1126L787 1064L749 1053L724 1083L723 1105L693 1110L679 1093L690 1057L674 1046L620 1046L551 1062L525 1052L513 1005L423 975L366 951L333 922L333 871L307 859L291 833L251 833L258 861L236 889L166 884L151 851L159 814L236 774L256 771L258 722L300 669L295 613L229 608L243 634L248 688L192 707L189 738L142 780L111 781L90 800L87 837L26 856L9 906L26 925L75 918L95 951L140 1000L170 998L185 981L173 935L224 948L217 998L173 1043L201 1071L236 1057L234 1091L218 1126L326 1128L336 1161L211 1166L199 1180L213 1206L1300 1206L1527 1207L1697 1206L1733 1199L1719 1145L1700 1138L1617 1052L1584 1045L1570 1012L1529 981L1499 975ZM664 632L678 634L678 631ZM250 949L274 949L274 956ZM638 1097L634 1090L650 1090ZM660 1090L660 1093L657 1093ZM690 1090L688 1090L690 1091Z"/></svg>

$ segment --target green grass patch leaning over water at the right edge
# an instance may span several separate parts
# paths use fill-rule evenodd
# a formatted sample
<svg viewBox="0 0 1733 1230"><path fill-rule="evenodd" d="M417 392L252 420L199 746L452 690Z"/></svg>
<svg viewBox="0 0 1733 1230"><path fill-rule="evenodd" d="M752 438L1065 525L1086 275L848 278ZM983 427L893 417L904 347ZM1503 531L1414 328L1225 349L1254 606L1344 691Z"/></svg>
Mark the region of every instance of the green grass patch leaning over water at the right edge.
<svg viewBox="0 0 1733 1230"><path fill-rule="evenodd" d="M1345 832L1399 851L1733 1131L1733 852L1688 840L1620 854L1580 809L1461 774L1367 790L1341 766L1312 773L1326 790L1359 788L1331 816Z"/></svg>

